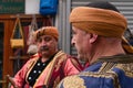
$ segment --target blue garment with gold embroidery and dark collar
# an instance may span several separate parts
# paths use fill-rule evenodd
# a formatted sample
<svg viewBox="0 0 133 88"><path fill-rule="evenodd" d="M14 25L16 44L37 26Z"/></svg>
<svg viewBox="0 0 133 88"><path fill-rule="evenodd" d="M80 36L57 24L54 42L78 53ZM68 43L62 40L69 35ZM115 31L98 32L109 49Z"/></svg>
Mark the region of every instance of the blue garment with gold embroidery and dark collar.
<svg viewBox="0 0 133 88"><path fill-rule="evenodd" d="M79 75L64 78L57 88L133 88L133 56L101 58Z"/></svg>

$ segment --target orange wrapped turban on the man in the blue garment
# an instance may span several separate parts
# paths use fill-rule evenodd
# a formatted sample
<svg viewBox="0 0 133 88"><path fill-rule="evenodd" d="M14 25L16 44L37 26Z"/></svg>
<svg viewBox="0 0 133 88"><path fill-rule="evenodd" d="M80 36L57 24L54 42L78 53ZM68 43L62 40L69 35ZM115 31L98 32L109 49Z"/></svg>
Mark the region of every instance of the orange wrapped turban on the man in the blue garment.
<svg viewBox="0 0 133 88"><path fill-rule="evenodd" d="M127 28L126 19L113 10L78 7L70 14L72 26L102 36L122 37Z"/></svg>

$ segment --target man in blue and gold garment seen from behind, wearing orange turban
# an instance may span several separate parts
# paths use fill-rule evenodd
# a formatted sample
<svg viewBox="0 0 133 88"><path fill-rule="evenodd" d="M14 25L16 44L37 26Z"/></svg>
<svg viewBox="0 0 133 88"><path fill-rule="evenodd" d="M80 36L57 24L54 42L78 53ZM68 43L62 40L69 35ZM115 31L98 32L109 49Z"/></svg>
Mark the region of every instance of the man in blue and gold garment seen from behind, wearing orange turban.
<svg viewBox="0 0 133 88"><path fill-rule="evenodd" d="M70 23L78 57L90 66L57 88L133 88L133 50L123 37L127 22L115 7L98 1L74 8Z"/></svg>

